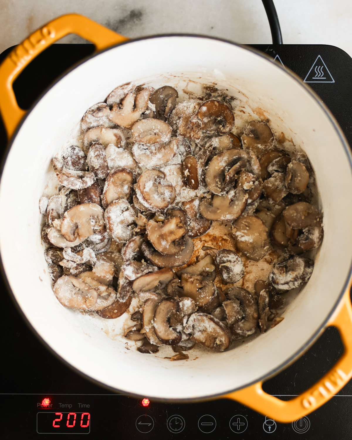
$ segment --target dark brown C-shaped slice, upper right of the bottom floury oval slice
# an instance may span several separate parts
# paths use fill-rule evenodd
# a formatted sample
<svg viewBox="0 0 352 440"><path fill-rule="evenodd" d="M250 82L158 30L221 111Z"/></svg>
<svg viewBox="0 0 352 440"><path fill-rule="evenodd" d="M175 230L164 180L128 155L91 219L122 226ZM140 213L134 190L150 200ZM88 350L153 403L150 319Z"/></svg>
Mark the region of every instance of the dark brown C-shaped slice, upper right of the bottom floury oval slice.
<svg viewBox="0 0 352 440"><path fill-rule="evenodd" d="M242 319L231 326L232 334L237 338L253 334L258 323L258 307L253 295L243 287L231 287L224 293L230 300L239 301L242 312Z"/></svg>

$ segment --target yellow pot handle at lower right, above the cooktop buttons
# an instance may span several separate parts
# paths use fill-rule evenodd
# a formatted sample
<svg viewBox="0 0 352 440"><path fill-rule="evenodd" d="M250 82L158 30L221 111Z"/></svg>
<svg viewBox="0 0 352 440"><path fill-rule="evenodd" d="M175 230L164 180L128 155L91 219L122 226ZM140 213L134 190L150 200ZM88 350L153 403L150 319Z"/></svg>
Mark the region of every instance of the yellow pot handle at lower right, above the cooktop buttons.
<svg viewBox="0 0 352 440"><path fill-rule="evenodd" d="M264 392L263 382L223 397L237 400L282 423L293 422L331 399L352 377L352 306L349 291L350 288L346 290L337 310L327 324L339 330L345 351L334 367L319 382L300 396L288 401L280 400Z"/></svg>

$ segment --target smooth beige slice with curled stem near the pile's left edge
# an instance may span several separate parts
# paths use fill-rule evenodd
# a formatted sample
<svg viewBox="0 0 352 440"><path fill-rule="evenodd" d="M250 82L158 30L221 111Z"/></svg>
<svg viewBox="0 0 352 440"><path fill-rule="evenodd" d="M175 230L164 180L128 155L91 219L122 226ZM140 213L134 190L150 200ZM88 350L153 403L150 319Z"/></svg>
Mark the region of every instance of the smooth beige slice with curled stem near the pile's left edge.
<svg viewBox="0 0 352 440"><path fill-rule="evenodd" d="M61 234L67 241L74 242L77 238L85 240L103 229L103 209L95 203L83 203L66 211L62 220Z"/></svg>

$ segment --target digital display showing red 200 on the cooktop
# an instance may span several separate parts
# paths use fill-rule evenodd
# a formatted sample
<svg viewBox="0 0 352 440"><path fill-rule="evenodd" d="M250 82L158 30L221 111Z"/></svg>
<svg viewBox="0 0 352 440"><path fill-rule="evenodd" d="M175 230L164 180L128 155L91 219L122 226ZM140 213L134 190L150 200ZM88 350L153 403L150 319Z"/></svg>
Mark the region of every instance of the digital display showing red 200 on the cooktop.
<svg viewBox="0 0 352 440"><path fill-rule="evenodd" d="M91 414L87 412L37 413L38 434L89 434Z"/></svg>

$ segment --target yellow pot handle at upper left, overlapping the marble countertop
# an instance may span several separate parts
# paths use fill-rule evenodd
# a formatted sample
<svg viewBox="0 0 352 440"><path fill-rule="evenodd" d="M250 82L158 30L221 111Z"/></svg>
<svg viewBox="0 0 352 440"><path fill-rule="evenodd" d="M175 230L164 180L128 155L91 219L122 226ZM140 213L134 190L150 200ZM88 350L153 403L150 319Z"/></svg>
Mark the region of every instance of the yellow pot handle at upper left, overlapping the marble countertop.
<svg viewBox="0 0 352 440"><path fill-rule="evenodd" d="M18 107L12 84L22 70L55 41L74 33L94 43L97 51L128 38L78 14L62 15L36 30L30 37L18 44L0 66L0 113L8 139L15 132L26 112Z"/></svg>

